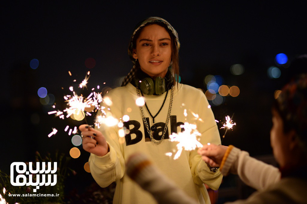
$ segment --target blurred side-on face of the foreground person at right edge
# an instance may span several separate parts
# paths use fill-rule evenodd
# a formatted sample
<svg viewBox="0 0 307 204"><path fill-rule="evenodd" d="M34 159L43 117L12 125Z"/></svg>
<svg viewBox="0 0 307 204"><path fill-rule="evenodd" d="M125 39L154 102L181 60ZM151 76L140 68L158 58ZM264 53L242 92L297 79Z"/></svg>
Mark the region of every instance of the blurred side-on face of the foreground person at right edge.
<svg viewBox="0 0 307 204"><path fill-rule="evenodd" d="M284 167L291 161L292 157L290 150L291 136L290 133L284 133L283 121L279 113L273 109L272 114L271 146L276 161L280 167Z"/></svg>

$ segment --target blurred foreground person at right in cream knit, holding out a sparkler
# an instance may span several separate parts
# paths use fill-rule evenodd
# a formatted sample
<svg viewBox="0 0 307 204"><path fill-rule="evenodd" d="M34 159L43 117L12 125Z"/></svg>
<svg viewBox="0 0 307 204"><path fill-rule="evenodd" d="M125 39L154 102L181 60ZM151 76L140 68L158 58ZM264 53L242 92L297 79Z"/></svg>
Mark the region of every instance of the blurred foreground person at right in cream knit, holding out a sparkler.
<svg viewBox="0 0 307 204"><path fill-rule="evenodd" d="M307 203L307 74L287 84L272 108L271 146L279 169L233 146L204 145L198 152L223 175L238 174L258 191L234 203Z"/></svg>

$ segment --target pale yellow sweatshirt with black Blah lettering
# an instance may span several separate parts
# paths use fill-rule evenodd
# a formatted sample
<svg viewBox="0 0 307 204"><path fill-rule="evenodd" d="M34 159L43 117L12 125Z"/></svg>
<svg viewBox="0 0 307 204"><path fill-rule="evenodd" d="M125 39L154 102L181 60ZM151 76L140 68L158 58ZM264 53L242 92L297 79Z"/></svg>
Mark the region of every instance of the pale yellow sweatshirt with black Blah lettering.
<svg viewBox="0 0 307 204"><path fill-rule="evenodd" d="M152 115L160 109L165 94L166 92L159 96L144 95ZM142 114L135 104L138 98L136 88L131 83L113 89L105 97L111 99L112 105L103 106L106 107L105 110L110 108L113 117L121 119L124 115L129 116L129 121L124 122L124 127L129 129L125 137L119 137L117 126L111 128L103 126L99 129L106 137L110 151L103 157L91 154L89 158L91 174L101 187L107 187L116 181L113 203L157 203L152 195L141 189L125 174L125 161L136 152L146 154L153 164L188 196L199 203L210 203L204 183L214 190L218 189L222 180L221 173L210 172L207 164L197 154L197 149L183 151L177 160L165 155L169 152L176 154L177 143L169 141L168 138L172 132L181 131L180 125L184 122L197 125L197 130L201 133L200 143L220 144L215 118L211 108L208 107L209 103L204 93L184 84L178 84L178 88L177 85L174 86L173 106L167 132L164 141L158 145L153 144L147 130L144 131L146 127L143 124ZM161 112L155 118L157 126L155 139L161 138L169 111L170 97L171 90ZM145 106L143 109L149 126L152 126L152 118ZM184 114L185 109L187 116Z"/></svg>

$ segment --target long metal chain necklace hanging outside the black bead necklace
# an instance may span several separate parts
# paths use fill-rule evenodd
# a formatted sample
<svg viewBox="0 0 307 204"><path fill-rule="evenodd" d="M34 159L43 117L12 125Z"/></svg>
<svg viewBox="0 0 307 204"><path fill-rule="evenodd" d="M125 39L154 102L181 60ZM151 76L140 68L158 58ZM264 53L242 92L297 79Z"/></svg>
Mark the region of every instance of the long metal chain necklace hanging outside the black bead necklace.
<svg viewBox="0 0 307 204"><path fill-rule="evenodd" d="M140 97L140 90L138 89L138 87L136 87L136 92L138 94L138 97ZM167 126L169 124L169 118L171 116L171 111L172 111L172 105L173 105L173 96L174 96L174 86L172 86L172 89L171 89L171 98L170 98L170 102L169 102L169 112L167 114L167 118L166 118L166 122L165 122L165 126L164 126L164 130L163 130L163 134L162 134L162 137L161 137L161 140L159 140L158 142L153 139L153 134L151 133L150 129L149 129L149 125L146 121L146 118L145 118L145 114L144 114L144 110L143 110L143 106L140 106L140 110L141 110L141 113L142 113L142 119L144 121L144 124L146 126L146 129L147 129L147 132L150 136L150 139L151 141L154 143L154 144L160 144L163 139L164 139L164 136L165 136L165 133L166 133L166 130L167 130Z"/></svg>

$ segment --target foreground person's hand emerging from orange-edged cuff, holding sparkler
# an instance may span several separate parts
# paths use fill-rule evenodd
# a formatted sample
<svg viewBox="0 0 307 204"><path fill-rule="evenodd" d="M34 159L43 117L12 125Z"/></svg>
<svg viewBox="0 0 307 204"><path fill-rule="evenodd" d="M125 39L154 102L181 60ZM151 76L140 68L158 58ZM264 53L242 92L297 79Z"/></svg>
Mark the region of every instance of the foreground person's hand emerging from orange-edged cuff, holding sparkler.
<svg viewBox="0 0 307 204"><path fill-rule="evenodd" d="M218 167L222 163L226 150L226 146L210 144L200 147L197 153L200 154L201 158L211 167Z"/></svg>

